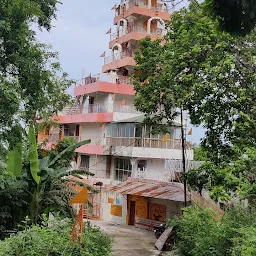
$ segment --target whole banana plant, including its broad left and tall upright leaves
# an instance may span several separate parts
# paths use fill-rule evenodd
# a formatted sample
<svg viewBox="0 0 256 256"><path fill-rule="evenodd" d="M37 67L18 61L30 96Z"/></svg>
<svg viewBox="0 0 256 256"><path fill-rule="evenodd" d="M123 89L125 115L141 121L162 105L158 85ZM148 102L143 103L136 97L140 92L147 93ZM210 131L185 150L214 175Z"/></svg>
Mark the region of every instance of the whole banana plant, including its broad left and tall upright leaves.
<svg viewBox="0 0 256 256"><path fill-rule="evenodd" d="M30 142L29 164L22 163L22 143L20 143L8 153L6 163L0 162L0 171L4 170L5 173L8 173L13 178L16 187L20 182L23 182L22 187L28 194L28 214L33 223L38 222L42 213L47 214L50 211L58 211L71 217L73 210L69 206L69 200L73 192L69 190L67 182L75 182L79 186L86 186L92 192L96 192L96 190L87 184L70 179L70 176L82 179L82 174L88 176L94 174L85 170L73 170L69 167L58 168L56 166L66 153L73 152L76 148L89 144L91 141L86 140L72 144L55 156L54 159L49 156L39 159L33 125L29 127L28 138ZM6 181L1 180L0 175L0 189L2 188L3 191L5 183Z"/></svg>

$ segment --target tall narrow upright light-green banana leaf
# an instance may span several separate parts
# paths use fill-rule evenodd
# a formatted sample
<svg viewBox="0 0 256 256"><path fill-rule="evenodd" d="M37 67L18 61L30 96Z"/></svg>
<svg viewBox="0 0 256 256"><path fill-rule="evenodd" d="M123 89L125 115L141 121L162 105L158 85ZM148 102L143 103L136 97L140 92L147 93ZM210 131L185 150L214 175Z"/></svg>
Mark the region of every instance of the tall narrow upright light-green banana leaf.
<svg viewBox="0 0 256 256"><path fill-rule="evenodd" d="M30 171L33 179L37 184L40 182L39 173L39 161L38 161L38 152L37 152L37 143L34 126L29 127L29 141L30 141Z"/></svg>

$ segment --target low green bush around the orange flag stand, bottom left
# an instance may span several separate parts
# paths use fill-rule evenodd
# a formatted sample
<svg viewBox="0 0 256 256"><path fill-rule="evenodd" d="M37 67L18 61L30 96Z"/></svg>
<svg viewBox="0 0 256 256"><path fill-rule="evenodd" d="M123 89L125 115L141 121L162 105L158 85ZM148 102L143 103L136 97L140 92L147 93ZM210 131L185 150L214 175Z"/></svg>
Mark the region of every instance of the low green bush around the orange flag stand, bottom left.
<svg viewBox="0 0 256 256"><path fill-rule="evenodd" d="M50 227L48 227L50 224ZM33 225L0 242L0 256L110 256L111 239L99 228L85 225L82 245L70 243L71 220Z"/></svg>

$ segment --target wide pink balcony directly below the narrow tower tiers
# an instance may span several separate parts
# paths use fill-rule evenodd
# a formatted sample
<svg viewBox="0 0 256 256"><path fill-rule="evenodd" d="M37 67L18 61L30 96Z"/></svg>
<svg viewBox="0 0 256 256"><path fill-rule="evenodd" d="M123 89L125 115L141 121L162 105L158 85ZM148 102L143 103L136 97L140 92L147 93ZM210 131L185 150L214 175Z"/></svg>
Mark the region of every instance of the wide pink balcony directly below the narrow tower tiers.
<svg viewBox="0 0 256 256"><path fill-rule="evenodd" d="M78 81L74 89L74 96L88 95L95 92L135 95L130 77L110 76L102 73Z"/></svg>

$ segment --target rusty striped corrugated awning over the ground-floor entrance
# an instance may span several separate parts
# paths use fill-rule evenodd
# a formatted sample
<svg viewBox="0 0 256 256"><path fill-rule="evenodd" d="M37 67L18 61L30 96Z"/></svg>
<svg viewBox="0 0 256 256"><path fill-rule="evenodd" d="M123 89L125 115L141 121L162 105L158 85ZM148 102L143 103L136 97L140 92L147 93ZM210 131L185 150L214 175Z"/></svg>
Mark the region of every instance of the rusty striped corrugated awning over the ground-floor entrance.
<svg viewBox="0 0 256 256"><path fill-rule="evenodd" d="M110 187L108 190L124 195L184 202L184 185L176 182L129 178L128 181ZM187 201L190 201L189 195L187 196Z"/></svg>

